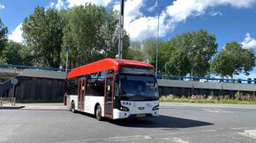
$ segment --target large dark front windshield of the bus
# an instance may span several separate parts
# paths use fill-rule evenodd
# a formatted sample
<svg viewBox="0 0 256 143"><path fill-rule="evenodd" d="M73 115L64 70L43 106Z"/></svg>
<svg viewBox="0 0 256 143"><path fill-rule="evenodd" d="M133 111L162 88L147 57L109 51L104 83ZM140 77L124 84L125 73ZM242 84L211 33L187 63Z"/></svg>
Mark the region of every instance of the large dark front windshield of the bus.
<svg viewBox="0 0 256 143"><path fill-rule="evenodd" d="M119 81L123 97L159 97L157 82L153 75L120 75Z"/></svg>

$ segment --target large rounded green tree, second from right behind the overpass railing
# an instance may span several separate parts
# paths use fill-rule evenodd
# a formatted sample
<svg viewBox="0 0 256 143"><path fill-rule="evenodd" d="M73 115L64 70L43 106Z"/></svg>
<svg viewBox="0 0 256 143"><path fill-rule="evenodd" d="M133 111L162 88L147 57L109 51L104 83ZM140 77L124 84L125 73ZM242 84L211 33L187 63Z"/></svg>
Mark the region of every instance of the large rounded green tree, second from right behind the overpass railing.
<svg viewBox="0 0 256 143"><path fill-rule="evenodd" d="M166 56L169 57L169 61L165 69L171 75L186 75L190 71L192 76L205 76L210 69L209 61L216 53L217 46L215 35L209 34L206 30L177 35L169 40L169 48L165 49L169 55Z"/></svg>

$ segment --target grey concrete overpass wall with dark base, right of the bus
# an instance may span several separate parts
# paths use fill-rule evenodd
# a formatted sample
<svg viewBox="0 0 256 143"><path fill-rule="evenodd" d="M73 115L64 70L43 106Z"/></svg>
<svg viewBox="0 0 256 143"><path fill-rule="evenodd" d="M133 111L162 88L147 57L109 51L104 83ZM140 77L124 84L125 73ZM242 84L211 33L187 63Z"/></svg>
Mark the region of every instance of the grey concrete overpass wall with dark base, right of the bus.
<svg viewBox="0 0 256 143"><path fill-rule="evenodd" d="M249 97L255 96L256 84L235 83L235 82L196 82L158 79L161 96L172 95L174 97L191 97L201 96L235 98L237 92L241 95Z"/></svg>

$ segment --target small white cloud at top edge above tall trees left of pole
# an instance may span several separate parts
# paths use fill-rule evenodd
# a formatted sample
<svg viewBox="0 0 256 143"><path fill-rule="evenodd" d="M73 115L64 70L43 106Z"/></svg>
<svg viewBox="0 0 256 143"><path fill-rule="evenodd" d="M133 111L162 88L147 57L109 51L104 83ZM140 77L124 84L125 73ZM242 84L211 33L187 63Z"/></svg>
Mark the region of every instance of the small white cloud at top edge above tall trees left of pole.
<svg viewBox="0 0 256 143"><path fill-rule="evenodd" d="M95 5L108 6L111 0L67 0L69 7L92 3Z"/></svg>

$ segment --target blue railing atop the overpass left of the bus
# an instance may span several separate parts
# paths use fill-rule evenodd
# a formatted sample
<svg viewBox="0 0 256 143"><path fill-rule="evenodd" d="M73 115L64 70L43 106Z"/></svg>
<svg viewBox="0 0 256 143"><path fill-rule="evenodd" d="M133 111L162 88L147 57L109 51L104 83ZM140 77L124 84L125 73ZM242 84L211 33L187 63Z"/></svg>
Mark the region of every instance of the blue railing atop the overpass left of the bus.
<svg viewBox="0 0 256 143"><path fill-rule="evenodd" d="M25 66L25 65L0 65L0 68L18 68L18 69L41 69L41 70L53 70L53 71L62 71L64 72L64 68L42 68L42 67L34 67L34 66ZM68 72L70 69L68 69Z"/></svg>

